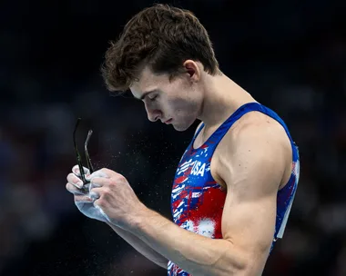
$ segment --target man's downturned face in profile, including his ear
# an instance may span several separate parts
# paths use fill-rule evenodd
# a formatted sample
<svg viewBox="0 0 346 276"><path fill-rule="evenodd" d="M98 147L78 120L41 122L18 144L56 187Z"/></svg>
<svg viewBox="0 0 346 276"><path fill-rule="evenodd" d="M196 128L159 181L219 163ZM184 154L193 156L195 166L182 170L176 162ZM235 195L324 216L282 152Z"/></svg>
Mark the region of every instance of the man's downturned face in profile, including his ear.
<svg viewBox="0 0 346 276"><path fill-rule="evenodd" d="M149 121L172 124L180 132L195 122L201 109L202 93L198 88L198 64L191 63L187 64L188 73L173 80L169 80L168 74L153 74L148 67L143 69L130 90L145 104Z"/></svg>

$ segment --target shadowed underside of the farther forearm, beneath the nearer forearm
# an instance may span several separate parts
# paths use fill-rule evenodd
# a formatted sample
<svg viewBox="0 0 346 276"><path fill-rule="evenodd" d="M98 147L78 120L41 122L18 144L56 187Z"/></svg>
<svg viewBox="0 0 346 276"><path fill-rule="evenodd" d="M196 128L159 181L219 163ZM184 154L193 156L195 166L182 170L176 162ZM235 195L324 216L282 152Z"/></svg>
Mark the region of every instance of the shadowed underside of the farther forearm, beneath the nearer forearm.
<svg viewBox="0 0 346 276"><path fill-rule="evenodd" d="M134 234L127 232L117 226L107 223L117 234L128 242L134 249L136 249L143 256L148 258L148 260L155 262L158 266L167 270L168 260L159 254L157 251L153 250L148 246L147 243L143 242L137 238Z"/></svg>

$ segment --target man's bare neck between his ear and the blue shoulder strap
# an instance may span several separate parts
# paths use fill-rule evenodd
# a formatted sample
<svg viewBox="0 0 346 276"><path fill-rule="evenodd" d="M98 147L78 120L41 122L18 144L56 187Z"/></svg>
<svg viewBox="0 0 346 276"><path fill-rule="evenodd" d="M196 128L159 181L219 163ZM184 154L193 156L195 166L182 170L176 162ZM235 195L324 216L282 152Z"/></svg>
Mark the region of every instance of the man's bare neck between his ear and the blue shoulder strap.
<svg viewBox="0 0 346 276"><path fill-rule="evenodd" d="M206 128L219 126L241 105L256 102L255 99L225 74L206 74L204 99L198 119Z"/></svg>

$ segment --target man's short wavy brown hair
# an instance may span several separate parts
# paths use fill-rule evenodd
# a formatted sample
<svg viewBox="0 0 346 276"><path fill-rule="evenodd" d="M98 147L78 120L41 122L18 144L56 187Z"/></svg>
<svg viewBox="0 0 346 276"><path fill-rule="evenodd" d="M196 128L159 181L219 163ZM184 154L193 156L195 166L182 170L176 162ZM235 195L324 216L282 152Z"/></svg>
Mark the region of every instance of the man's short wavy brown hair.
<svg viewBox="0 0 346 276"><path fill-rule="evenodd" d="M117 42L111 42L101 71L110 91L126 91L143 65L155 74L182 73L192 59L209 74L219 72L209 34L190 11L157 4L132 17Z"/></svg>

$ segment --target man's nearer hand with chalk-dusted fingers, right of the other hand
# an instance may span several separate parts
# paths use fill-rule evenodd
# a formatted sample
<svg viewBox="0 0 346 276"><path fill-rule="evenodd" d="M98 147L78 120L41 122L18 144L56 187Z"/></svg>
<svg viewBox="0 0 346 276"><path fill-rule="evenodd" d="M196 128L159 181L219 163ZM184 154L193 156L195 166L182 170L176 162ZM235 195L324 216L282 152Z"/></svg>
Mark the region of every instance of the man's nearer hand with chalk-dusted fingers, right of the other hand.
<svg viewBox="0 0 346 276"><path fill-rule="evenodd" d="M104 168L86 179L91 182L90 195L96 198L95 208L104 213L108 222L127 231L137 226L137 218L148 209L123 175Z"/></svg>

